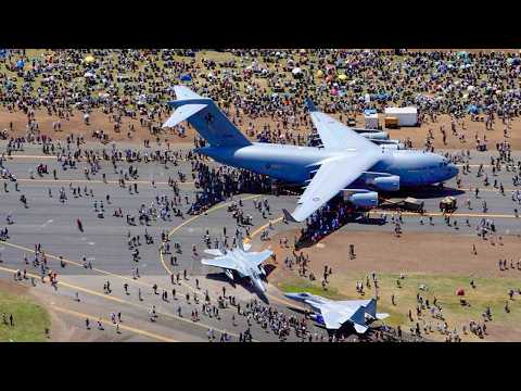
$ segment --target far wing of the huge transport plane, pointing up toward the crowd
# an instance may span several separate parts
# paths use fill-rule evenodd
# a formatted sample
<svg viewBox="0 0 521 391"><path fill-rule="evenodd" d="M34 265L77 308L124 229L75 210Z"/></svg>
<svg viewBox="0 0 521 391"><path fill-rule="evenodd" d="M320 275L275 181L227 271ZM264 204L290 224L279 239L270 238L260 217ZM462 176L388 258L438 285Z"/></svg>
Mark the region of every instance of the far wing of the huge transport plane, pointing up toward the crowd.
<svg viewBox="0 0 521 391"><path fill-rule="evenodd" d="M326 148L354 149L354 150L374 150L378 147L358 135L350 127L334 119L332 116L317 111L313 102L307 100L307 108L312 116L313 124L317 128L320 140Z"/></svg>

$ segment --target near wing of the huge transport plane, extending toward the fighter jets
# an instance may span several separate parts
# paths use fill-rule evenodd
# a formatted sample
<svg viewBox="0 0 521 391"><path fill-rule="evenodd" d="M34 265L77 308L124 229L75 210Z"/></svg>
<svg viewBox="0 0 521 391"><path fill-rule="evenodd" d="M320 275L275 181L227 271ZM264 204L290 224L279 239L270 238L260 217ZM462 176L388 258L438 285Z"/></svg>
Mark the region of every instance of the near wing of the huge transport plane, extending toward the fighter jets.
<svg viewBox="0 0 521 391"><path fill-rule="evenodd" d="M355 181L361 173L378 162L372 152L356 153L323 161L291 214L283 210L287 220L300 223L309 217L320 206Z"/></svg>

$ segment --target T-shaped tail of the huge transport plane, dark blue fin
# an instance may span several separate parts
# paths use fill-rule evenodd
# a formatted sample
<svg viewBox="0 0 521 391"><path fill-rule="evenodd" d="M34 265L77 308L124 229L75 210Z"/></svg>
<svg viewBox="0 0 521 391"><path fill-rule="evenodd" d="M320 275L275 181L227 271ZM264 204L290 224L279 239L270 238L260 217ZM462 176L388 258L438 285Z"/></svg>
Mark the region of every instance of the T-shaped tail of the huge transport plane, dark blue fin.
<svg viewBox="0 0 521 391"><path fill-rule="evenodd" d="M246 147L252 143L209 98L203 98L185 86L174 87L177 100L169 102L174 114L163 127L174 127L183 121L212 147Z"/></svg>

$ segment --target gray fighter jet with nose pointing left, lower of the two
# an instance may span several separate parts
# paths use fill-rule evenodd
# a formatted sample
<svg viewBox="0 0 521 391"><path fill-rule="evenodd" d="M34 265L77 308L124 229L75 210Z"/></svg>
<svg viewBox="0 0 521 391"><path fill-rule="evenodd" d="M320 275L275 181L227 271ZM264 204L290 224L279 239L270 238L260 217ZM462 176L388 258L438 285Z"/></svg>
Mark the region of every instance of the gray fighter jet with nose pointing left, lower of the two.
<svg viewBox="0 0 521 391"><path fill-rule="evenodd" d="M367 320L384 319L389 316L389 314L377 313L374 299L333 301L307 292L284 293L284 295L309 305L314 312L313 319L330 330L336 330L345 323L351 323L357 332L364 333L368 329Z"/></svg>

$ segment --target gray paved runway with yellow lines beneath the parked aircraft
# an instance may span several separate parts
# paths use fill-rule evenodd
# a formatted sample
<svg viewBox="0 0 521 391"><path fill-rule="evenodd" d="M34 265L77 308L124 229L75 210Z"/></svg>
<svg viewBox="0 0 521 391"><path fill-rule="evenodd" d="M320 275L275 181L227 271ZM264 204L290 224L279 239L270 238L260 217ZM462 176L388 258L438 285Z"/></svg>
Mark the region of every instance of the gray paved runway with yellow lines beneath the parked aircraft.
<svg viewBox="0 0 521 391"><path fill-rule="evenodd" d="M101 149L99 144L93 147ZM177 146L187 150L189 146ZM0 152L5 149L4 143L0 144ZM114 172L109 162L102 163L102 172L106 173L107 182L103 182L101 173L87 179L84 174L85 162L80 162L76 169L64 172L59 167L56 159L49 155L42 155L41 148L29 146L25 151L14 153L15 156L9 159L5 166L12 172L18 181L18 191L15 190L14 182L7 180L8 192L4 192L3 184L0 184L0 227L5 226L5 217L12 214L15 224L9 226L10 239L0 242L0 253L3 263L0 264L0 276L12 279L13 270L24 268L28 276L34 275L37 287L42 297L55 298L49 299L55 301L55 311L67 319L74 327L85 329L82 325L86 316L91 316L92 320L102 317L107 320L106 332L111 340L156 340L156 341L204 341L207 340L207 330L213 328L216 332L226 332L237 340L239 332L247 328L245 317L237 314L237 308L230 307L221 310L219 319L208 316L200 316L201 320L192 321L190 313L196 306L193 304L193 297L187 302L185 294L188 292L198 293L202 301L204 291L207 289L209 295L216 299L223 294L223 287L227 294L232 294L242 303L246 303L255 298L254 292L244 285L234 287L223 277L219 269L203 266L200 262L202 250L205 248L202 237L206 229L209 230L213 238L223 235L226 227L228 232L234 232L236 222L227 210L232 201L243 200L244 212L253 216L253 226L250 227L252 243L254 250L266 245L266 242L259 240L260 232L266 229L269 220L272 220L272 230L270 236L276 232L294 227L297 225L287 225L282 223L282 209L292 211L295 206L297 195L262 195L262 194L239 194L225 203L215 205L207 213L190 216L185 214L183 218L173 217L171 219L156 218L150 226L140 225L129 226L125 216L137 215L139 207L144 204L149 206L154 202L155 197L168 194L171 197L171 189L167 186L168 177L178 179L178 172L187 174L187 182L180 184L181 198L185 202L185 195L189 202L194 199L195 188L191 177L189 162L179 162L177 167L171 164L165 165L158 163L118 163L118 171L127 171L129 165L139 168L138 191L139 193L129 193L128 188L122 188L118 185L119 175ZM494 154L495 155L495 154ZM518 187L512 185L512 173L501 169L497 176L492 175L492 167L485 166L485 173L488 175L491 186L483 187L483 177L476 178L476 165L490 164L491 152L473 153L471 160L472 172L468 175L460 174L462 184L458 189L456 180L445 184L445 188L437 190L434 188L415 190L404 193L404 197L416 197L424 201L427 216L433 216L433 225L429 224L428 217L420 220L420 216L414 213L404 213L404 229L429 231L429 232L453 232L454 235L475 235L475 225L482 218L493 219L497 231L500 235L521 235L521 225L519 218L514 215L514 209L521 205L512 201L511 193ZM514 159L519 159L514 155ZM49 173L52 169L58 172L58 180L52 178L52 174L39 176L36 174L36 166L39 163L49 166ZM30 172L34 172L35 179L30 178ZM494 179L501 182L506 189L505 195L499 193L498 189L493 188ZM152 180L155 185L152 185ZM5 181L5 180L2 180ZM132 182L130 180L129 182ZM69 192L69 187L79 187L81 197L74 198ZM472 187L480 187L480 198L476 199L473 192L469 191ZM65 203L59 201L59 192L64 188L68 200ZM84 189L88 192L92 190L93 197L86 195ZM49 189L52 198L49 197ZM24 194L28 201L28 207L24 207L20 201ZM110 203L106 202L106 195L110 195ZM444 217L440 213L439 203L445 195L454 195L458 200L458 210L453 214L452 220L458 220L458 229L453 225L444 223ZM394 195L393 195L394 197ZM267 199L271 207L271 215L263 218L260 213L254 207L253 200ZM467 199L471 200L471 209L466 205ZM93 203L102 201L104 204L104 218L99 218L94 212ZM487 204L487 212L483 212L482 202ZM113 216L115 209L122 209L124 217ZM183 212L189 205L183 205ZM382 214L392 215L390 211L374 211L371 216L381 216ZM85 228L80 232L76 226L76 219L82 222ZM469 225L466 220L469 219ZM367 230L367 231L390 231L394 226L387 218L384 225L368 225L364 223L352 223L345 225L342 230ZM144 232L152 235L153 244L144 244ZM176 255L178 265L170 264L169 254L160 253L161 232L167 232L170 237L171 247L175 242L180 243L181 253ZM141 260L134 262L131 251L128 249L128 232L130 236L140 235L142 245L139 247ZM228 234L230 236L230 234ZM59 290L54 291L49 283L39 282L39 269L30 264L24 264L24 255L29 260L34 258L35 244L41 243L46 252L51 269L58 270ZM274 245L276 243L272 243ZM199 255L192 254L192 245L196 245ZM66 263L65 267L60 266L59 257L63 256ZM85 268L82 257L91 263L92 269ZM132 278L132 269L139 267L140 278ZM182 278L183 270L187 270L188 279ZM171 283L170 274L180 274L180 282ZM201 289L195 287L195 279L199 280ZM30 277L22 283L30 285ZM103 285L110 281L113 293L103 293ZM269 276L268 276L269 282ZM124 285L128 283L129 294L125 293ZM153 285L157 285L157 292L168 291L168 302L161 300L160 294L154 294ZM176 289L176 299L171 298L171 289ZM141 290L142 301L138 299L138 290ZM80 302L75 301L75 293L78 292ZM268 285L268 299L270 305L284 313L302 317L302 314L288 307L290 304L281 297L275 287ZM215 300L214 300L215 302ZM52 304L49 304L52 307ZM149 312L152 305L156 305L158 314L157 321L149 320ZM181 315L178 313L181 311ZM110 321L111 312L123 312L124 323L120 335L115 332ZM238 326L233 326L232 315ZM326 335L325 330L314 326L312 321L307 323L313 332ZM92 325L96 328L94 325ZM267 332L255 321L252 321L252 335L257 341L277 341L278 338L272 332ZM99 330L89 332L102 333ZM101 338L101 337L100 337ZM107 338L107 337L103 337ZM297 340L294 333L289 340Z"/></svg>

